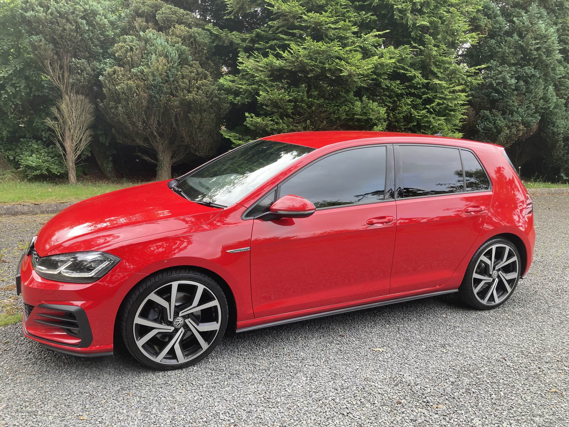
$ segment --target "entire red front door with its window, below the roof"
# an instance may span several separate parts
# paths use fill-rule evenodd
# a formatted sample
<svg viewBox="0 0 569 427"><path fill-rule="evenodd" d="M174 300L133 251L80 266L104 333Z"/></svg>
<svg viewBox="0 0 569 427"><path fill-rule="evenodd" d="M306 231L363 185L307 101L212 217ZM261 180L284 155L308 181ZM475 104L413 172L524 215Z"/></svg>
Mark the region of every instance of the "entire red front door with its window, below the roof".
<svg viewBox="0 0 569 427"><path fill-rule="evenodd" d="M303 219L254 220L255 317L389 293L396 224L395 202L386 191L386 176L391 188L393 174L391 167L386 174L389 156L391 146L385 145L339 151L279 186L278 197L302 196L316 212Z"/></svg>

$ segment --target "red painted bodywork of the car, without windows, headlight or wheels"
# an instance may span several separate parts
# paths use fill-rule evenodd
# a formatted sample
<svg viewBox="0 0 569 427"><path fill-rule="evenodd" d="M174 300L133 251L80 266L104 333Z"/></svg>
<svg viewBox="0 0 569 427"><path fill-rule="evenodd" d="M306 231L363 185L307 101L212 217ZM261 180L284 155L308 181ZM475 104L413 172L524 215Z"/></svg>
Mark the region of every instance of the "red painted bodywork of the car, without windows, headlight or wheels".
<svg viewBox="0 0 569 427"><path fill-rule="evenodd" d="M121 261L97 282L69 284L39 277L27 256L20 272L24 302L83 307L93 342L73 351L93 353L112 351L116 315L127 293L145 277L168 268L189 266L215 277L235 307L238 329L456 289L473 253L496 235L521 242L527 273L535 241L533 214L525 215L526 190L501 147L381 132L304 132L266 139L316 150L228 208L190 202L166 182L157 182L85 200L53 217L38 235L40 256L106 251ZM298 219L242 219L283 179L323 155L348 147L409 142L475 151L489 173L492 191L337 207ZM468 208L475 209L469 213ZM228 252L247 247L250 251ZM24 334L53 347L71 348L65 344L76 338L40 325L35 315L24 320Z"/></svg>

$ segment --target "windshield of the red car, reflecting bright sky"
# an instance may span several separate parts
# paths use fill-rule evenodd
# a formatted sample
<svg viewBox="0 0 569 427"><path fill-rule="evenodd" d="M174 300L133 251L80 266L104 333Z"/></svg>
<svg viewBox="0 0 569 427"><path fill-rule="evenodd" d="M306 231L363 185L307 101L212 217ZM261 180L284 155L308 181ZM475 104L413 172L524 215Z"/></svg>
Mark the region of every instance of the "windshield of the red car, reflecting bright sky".
<svg viewBox="0 0 569 427"><path fill-rule="evenodd" d="M178 188L191 200L230 206L313 148L258 139L186 175Z"/></svg>

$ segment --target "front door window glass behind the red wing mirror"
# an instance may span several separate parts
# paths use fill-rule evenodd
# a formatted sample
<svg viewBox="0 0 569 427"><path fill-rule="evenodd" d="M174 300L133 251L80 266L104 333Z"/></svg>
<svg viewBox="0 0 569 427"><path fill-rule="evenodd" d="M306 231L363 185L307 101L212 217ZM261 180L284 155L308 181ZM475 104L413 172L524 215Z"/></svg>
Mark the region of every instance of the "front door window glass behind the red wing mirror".
<svg viewBox="0 0 569 427"><path fill-rule="evenodd" d="M324 157L281 186L279 196L301 196L316 208L384 200L385 146L364 147Z"/></svg>

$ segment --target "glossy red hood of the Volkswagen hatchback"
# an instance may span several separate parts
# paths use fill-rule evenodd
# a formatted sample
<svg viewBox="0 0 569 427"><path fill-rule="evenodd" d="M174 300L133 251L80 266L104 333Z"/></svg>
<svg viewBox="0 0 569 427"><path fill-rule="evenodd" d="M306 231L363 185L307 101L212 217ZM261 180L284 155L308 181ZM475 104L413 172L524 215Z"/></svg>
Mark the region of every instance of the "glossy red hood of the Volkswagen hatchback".
<svg viewBox="0 0 569 427"><path fill-rule="evenodd" d="M39 256L95 251L126 240L196 227L222 210L193 203L153 182L75 203L48 221L38 234Z"/></svg>

